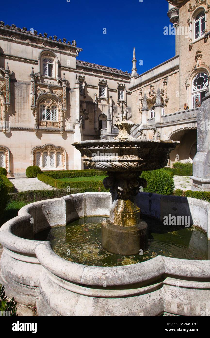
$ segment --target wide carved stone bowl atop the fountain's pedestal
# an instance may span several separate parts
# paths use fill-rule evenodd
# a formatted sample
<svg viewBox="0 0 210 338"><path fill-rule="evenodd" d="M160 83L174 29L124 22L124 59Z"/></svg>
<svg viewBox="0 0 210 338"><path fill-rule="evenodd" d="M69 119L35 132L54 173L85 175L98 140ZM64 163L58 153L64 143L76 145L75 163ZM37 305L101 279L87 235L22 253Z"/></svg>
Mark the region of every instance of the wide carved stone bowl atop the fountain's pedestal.
<svg viewBox="0 0 210 338"><path fill-rule="evenodd" d="M155 170L167 165L179 141L87 140L72 145L82 154L84 165L102 171Z"/></svg>

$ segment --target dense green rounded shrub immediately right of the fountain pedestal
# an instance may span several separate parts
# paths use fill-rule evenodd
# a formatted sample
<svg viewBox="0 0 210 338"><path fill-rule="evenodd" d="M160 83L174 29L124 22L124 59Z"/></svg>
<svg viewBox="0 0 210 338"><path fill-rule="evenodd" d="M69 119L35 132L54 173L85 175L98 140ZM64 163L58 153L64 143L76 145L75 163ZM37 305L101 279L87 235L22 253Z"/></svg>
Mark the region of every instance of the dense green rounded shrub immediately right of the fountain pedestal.
<svg viewBox="0 0 210 338"><path fill-rule="evenodd" d="M172 174L164 169L143 171L141 177L147 180L147 187L143 191L162 195L173 194L174 180Z"/></svg>

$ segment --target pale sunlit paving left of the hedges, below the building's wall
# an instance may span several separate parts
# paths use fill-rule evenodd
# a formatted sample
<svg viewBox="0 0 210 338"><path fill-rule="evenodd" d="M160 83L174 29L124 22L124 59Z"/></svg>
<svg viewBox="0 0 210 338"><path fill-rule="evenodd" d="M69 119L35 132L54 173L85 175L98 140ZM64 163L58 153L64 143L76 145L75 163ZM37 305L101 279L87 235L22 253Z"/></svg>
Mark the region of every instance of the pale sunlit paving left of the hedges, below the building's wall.
<svg viewBox="0 0 210 338"><path fill-rule="evenodd" d="M21 192L27 190L53 190L54 187L41 182L38 178L10 178L11 183L14 185L16 190L14 192Z"/></svg>

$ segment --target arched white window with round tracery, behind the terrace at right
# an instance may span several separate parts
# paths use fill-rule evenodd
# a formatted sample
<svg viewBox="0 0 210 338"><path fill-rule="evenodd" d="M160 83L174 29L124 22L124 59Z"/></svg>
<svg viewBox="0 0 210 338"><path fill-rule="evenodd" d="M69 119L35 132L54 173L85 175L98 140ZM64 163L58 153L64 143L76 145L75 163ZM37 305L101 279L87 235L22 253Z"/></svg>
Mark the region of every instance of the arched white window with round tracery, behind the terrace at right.
<svg viewBox="0 0 210 338"><path fill-rule="evenodd" d="M196 106L196 99L201 103L208 88L208 74L198 73L192 80L192 107Z"/></svg>

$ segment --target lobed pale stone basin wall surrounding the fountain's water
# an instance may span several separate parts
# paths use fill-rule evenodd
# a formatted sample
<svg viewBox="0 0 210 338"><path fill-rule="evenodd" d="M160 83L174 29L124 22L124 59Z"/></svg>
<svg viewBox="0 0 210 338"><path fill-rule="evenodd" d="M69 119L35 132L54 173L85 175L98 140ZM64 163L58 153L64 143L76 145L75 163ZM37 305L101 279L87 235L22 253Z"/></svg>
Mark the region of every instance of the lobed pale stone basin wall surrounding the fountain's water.
<svg viewBox="0 0 210 338"><path fill-rule="evenodd" d="M37 304L38 315L199 316L210 308L210 261L158 256L150 261L94 267L57 256L48 241L34 241L44 229L84 216L109 216L109 193L84 193L28 204L0 229L4 251L0 279L22 304ZM178 196L139 193L142 214L190 217L210 239L210 203ZM94 209L93 206L94 205ZM31 219L33 218L33 223ZM23 237L31 238L24 239ZM209 253L210 257L210 253Z"/></svg>

